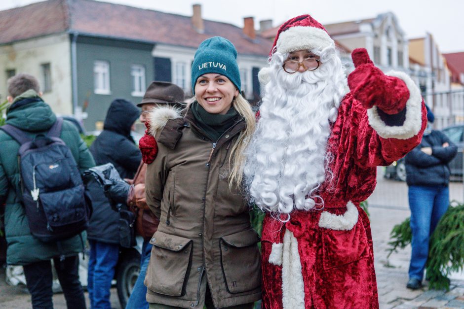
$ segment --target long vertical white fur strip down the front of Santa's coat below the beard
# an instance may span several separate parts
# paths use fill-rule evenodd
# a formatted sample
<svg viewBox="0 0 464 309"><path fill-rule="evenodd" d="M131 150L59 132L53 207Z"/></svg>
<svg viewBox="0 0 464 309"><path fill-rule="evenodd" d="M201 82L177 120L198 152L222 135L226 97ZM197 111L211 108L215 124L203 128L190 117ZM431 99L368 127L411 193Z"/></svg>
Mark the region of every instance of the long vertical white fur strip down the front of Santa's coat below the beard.
<svg viewBox="0 0 464 309"><path fill-rule="evenodd" d="M305 286L298 240L289 230L286 230L283 236L282 306L283 309L305 309Z"/></svg>

